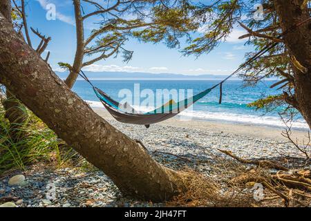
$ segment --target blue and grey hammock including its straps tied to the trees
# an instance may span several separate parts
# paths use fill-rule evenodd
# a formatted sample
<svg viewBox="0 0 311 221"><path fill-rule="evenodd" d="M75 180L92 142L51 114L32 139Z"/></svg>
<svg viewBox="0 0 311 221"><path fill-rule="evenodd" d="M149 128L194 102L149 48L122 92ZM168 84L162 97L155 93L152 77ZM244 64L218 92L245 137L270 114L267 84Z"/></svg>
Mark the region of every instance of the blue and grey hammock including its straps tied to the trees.
<svg viewBox="0 0 311 221"><path fill-rule="evenodd" d="M310 21L310 18L294 24L291 28L289 28L288 30L283 32L277 38L281 39L281 37L287 35L288 32L291 32L292 30L298 28L303 23L307 23L308 21ZM184 111L186 108L188 108L189 106L191 106L192 104L197 102L202 97L205 97L207 94L209 94L211 92L211 90L213 90L217 86L220 86L219 103L221 103L223 83L225 81L227 81L227 79L229 79L230 77L232 77L233 75L238 73L240 70L245 68L247 65L251 64L252 61L256 60L258 57L261 57L263 54L265 54L265 52L274 48L274 46L276 46L277 44L279 44L279 42L272 42L270 44L267 44L267 46L262 48L253 57L247 59L247 61L245 61L245 63L241 64L241 66L239 66L238 69L236 69L234 71L234 73L227 76L225 79L220 81L215 86L208 88L206 90L203 90L201 93L198 93L197 95L194 95L191 98L182 100L181 102L178 102L178 103L175 103L171 100L167 104L164 104L164 105L156 108L155 110L149 111L147 113L140 113L138 111L135 111L135 109L127 103L120 104L119 102L116 102L111 97L109 97L109 95L106 95L106 93L104 93L102 90L93 86L91 81L88 80L88 78L86 77L86 75L83 73L82 70L81 70L81 73L79 73L79 75L81 77L83 77L86 81L88 81L89 84L91 84L91 86L93 87L93 90L95 92L95 95L100 99L100 101L102 102L104 107L107 109L107 111L109 111L109 113L111 113L111 115L115 119L117 119L117 121L127 123L127 124L142 124L148 128L150 124L162 122L166 119L169 119L171 117L178 115L178 113L180 113L181 111Z"/></svg>

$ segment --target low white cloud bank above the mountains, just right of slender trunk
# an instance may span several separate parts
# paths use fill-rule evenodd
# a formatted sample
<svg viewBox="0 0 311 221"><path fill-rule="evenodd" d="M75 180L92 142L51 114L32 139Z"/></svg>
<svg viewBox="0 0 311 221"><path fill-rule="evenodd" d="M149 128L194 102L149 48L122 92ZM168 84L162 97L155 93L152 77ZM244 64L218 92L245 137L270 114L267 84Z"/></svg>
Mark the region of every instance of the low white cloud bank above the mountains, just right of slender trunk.
<svg viewBox="0 0 311 221"><path fill-rule="evenodd" d="M137 72L143 71L143 68L133 67L133 66L117 66L115 64L111 65L101 65L101 64L91 64L86 66L83 70L101 72L101 71L111 71L111 72Z"/></svg>

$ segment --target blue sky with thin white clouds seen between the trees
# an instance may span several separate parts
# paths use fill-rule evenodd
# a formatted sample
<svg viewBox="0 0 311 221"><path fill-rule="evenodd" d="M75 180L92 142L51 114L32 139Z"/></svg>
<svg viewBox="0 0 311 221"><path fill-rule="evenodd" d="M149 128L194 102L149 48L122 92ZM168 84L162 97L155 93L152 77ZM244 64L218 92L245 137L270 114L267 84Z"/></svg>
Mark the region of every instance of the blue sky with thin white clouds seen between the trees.
<svg viewBox="0 0 311 221"><path fill-rule="evenodd" d="M56 20L46 19L46 6L54 3L56 6ZM89 8L84 8L89 10ZM50 36L52 40L47 50L50 51L50 66L59 70L57 62L73 63L75 55L75 25L73 3L71 0L28 0L26 11L28 26ZM100 17L86 20L84 24L87 36ZM187 75L227 75L244 61L245 52L252 50L251 46L244 46L245 40L239 40L245 30L234 28L232 35L208 55L198 58L194 56L182 57L177 49L169 49L164 44L143 44L135 39L126 44L126 48L134 51L133 59L125 64L121 57L98 61L84 70L91 71L126 71L147 73L179 73ZM31 35L35 46L39 39Z"/></svg>

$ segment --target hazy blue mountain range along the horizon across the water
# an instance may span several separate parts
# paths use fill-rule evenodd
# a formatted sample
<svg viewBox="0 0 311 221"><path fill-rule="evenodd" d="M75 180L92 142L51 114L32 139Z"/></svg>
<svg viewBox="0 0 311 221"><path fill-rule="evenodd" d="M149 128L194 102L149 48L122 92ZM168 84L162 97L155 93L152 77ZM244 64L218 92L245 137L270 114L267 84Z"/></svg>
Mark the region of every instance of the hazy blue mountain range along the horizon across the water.
<svg viewBox="0 0 311 221"><path fill-rule="evenodd" d="M55 72L60 78L68 76L66 72ZM126 72L91 72L84 71L88 79L223 79L227 75L181 75L169 73L126 73ZM82 79L79 77L78 79ZM232 77L238 79L238 77Z"/></svg>

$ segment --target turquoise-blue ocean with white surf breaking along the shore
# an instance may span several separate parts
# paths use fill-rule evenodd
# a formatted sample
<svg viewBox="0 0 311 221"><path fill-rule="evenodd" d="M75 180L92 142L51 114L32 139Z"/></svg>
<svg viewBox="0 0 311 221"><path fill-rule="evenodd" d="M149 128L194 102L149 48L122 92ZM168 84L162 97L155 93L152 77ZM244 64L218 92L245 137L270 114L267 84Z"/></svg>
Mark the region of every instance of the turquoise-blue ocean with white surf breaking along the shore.
<svg viewBox="0 0 311 221"><path fill-rule="evenodd" d="M149 107L144 106L145 103L143 101L145 98L142 97L142 93L144 92L153 92L156 95L157 90L167 89L177 91L179 95L185 90L185 92L188 92L185 93L185 97L187 97L187 95L191 95L191 93L195 95L213 86L218 83L218 80L96 79L92 80L92 82L97 88L100 88L119 102L124 99L124 97L120 97L120 92L131 92L133 95L133 97L131 97L131 105L140 109L140 111L151 111L152 108L159 105L157 105L156 98L154 98L155 101L152 105L149 105ZM285 125L281 121L278 113L281 111L281 108L270 113L265 113L265 111L256 111L254 108L247 106L247 104L263 97L263 95L276 95L277 91L270 88L270 85L274 84L274 82L276 81L265 81L258 84L256 87L245 88L243 87L243 82L240 80L226 81L225 84L223 84L222 104L218 104L220 92L218 88L215 88L207 96L196 102L193 107L180 113L180 117L214 122L284 127ZM140 89L139 92L137 90L138 86ZM93 89L86 81L78 79L73 90L93 108L104 108L93 93ZM170 98L174 99L174 97ZM166 100L163 99L162 102L165 103L168 101L169 97L167 97ZM151 102L149 102L149 104L150 103ZM308 124L305 123L301 115L297 115L292 123L292 128L303 130L308 128Z"/></svg>

